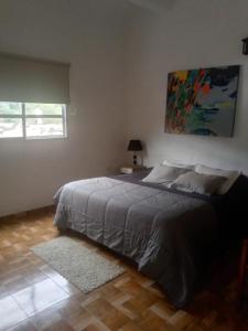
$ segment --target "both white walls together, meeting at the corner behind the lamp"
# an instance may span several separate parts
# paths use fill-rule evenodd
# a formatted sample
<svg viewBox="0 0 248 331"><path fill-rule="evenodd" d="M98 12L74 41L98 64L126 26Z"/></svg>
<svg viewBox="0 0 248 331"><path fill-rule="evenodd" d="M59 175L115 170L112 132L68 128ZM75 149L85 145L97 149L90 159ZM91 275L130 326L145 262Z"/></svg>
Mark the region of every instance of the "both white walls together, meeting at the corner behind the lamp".
<svg viewBox="0 0 248 331"><path fill-rule="evenodd" d="M0 216L51 204L67 181L115 172L130 138L145 143L148 166L248 168L248 3L166 2L161 15L141 10L125 43L121 1L0 1L0 51L72 63L68 138L0 140ZM225 64L242 65L235 137L164 134L168 72Z"/></svg>

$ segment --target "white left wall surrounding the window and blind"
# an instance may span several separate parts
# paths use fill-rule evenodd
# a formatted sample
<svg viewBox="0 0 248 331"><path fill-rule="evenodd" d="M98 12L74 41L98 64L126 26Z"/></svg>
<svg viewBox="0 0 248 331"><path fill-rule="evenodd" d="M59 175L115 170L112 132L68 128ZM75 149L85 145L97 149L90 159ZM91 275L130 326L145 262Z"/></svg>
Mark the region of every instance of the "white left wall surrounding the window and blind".
<svg viewBox="0 0 248 331"><path fill-rule="evenodd" d="M112 173L123 160L121 17L79 2L0 2L0 51L72 63L68 138L0 140L0 216L50 205L65 182Z"/></svg>

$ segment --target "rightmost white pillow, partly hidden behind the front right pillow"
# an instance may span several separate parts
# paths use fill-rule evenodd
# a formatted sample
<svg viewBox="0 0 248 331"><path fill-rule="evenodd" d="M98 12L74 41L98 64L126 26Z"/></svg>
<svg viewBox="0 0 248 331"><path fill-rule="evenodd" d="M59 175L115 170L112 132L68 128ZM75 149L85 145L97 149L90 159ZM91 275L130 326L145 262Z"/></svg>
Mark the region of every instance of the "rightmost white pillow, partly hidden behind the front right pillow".
<svg viewBox="0 0 248 331"><path fill-rule="evenodd" d="M196 164L195 172L203 173L203 174L225 177L226 181L218 189L217 191L218 194L227 193L229 189L233 186L233 184L235 183L235 181L240 175L240 171L215 169L203 164Z"/></svg>

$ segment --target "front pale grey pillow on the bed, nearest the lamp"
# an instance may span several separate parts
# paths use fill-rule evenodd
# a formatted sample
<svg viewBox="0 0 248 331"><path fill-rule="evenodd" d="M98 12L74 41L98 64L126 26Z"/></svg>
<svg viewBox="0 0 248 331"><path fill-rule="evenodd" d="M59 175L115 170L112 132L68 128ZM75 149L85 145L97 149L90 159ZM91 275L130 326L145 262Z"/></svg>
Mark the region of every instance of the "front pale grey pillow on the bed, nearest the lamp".
<svg viewBox="0 0 248 331"><path fill-rule="evenodd" d="M142 181L147 183L157 183L157 184L161 184L164 182L172 182L179 175L187 171L188 169L185 168L175 168L175 167L169 167L163 164L157 164L152 169L152 171L144 179L142 179Z"/></svg>

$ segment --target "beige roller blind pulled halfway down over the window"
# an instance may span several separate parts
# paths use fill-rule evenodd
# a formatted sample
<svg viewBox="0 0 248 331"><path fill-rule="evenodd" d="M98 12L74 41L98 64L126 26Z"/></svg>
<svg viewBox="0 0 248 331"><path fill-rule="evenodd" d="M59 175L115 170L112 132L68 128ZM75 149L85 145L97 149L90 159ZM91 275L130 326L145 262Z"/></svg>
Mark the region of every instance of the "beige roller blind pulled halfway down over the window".
<svg viewBox="0 0 248 331"><path fill-rule="evenodd" d="M69 64L0 54L0 100L69 104Z"/></svg>

